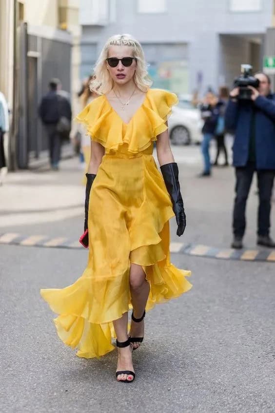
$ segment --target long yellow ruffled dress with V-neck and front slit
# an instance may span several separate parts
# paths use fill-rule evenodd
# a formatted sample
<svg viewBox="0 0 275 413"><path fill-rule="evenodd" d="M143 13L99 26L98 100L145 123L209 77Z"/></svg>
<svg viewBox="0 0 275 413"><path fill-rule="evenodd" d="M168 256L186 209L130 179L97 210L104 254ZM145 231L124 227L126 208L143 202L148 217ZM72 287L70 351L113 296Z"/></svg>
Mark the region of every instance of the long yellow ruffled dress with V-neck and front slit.
<svg viewBox="0 0 275 413"><path fill-rule="evenodd" d="M125 124L105 96L78 115L91 138L105 147L89 202L89 259L82 276L64 289L41 289L59 316L60 339L79 357L99 357L114 349L113 320L132 308L130 264L143 267L150 284L146 310L176 298L192 286L190 271L170 263L169 194L152 156L175 94L149 89Z"/></svg>

